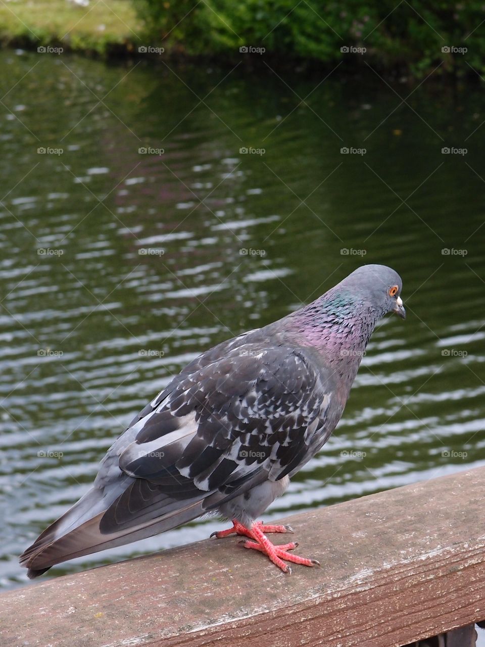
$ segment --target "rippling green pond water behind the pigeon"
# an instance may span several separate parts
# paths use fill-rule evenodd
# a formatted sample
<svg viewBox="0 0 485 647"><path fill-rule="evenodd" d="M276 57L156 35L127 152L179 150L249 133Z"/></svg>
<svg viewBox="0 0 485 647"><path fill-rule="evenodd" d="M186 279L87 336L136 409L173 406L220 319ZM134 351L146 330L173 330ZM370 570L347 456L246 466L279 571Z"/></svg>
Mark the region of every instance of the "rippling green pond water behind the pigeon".
<svg viewBox="0 0 485 647"><path fill-rule="evenodd" d="M411 88L371 71L0 60L1 586L26 582L18 554L171 375L362 262L400 272L407 320L376 329L337 432L265 519L485 465L479 87L428 81L400 105Z"/></svg>

